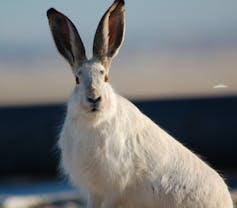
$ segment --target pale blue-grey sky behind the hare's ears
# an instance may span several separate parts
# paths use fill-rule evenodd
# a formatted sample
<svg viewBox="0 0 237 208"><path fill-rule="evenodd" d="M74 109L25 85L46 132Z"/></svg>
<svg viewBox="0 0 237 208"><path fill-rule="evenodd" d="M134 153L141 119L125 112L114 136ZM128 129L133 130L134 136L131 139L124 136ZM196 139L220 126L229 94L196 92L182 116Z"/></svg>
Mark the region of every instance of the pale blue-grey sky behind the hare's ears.
<svg viewBox="0 0 237 208"><path fill-rule="evenodd" d="M46 18L50 7L65 13L77 26L86 47L90 47L98 21L111 3L112 0L2 1L0 51L51 49ZM236 11L236 0L127 0L125 47L236 44Z"/></svg>

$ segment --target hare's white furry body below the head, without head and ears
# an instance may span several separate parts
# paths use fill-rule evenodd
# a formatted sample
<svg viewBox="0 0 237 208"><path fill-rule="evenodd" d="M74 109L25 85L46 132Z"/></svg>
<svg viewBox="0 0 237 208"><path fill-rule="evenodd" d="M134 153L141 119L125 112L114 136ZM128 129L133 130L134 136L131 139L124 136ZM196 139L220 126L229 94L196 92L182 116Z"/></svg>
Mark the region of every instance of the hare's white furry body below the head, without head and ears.
<svg viewBox="0 0 237 208"><path fill-rule="evenodd" d="M76 116L71 99L59 140L71 180L107 207L227 208L222 178L132 103L114 95L104 117Z"/></svg>

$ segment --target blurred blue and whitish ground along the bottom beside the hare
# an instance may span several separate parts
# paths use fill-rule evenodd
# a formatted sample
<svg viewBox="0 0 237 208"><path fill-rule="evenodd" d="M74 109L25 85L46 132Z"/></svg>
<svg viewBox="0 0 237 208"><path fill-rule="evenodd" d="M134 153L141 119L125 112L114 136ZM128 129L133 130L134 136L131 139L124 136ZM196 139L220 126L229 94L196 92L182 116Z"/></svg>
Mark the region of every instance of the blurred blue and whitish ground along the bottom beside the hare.
<svg viewBox="0 0 237 208"><path fill-rule="evenodd" d="M237 175L226 178L237 201ZM0 181L1 208L80 208L85 207L85 194L62 180Z"/></svg>

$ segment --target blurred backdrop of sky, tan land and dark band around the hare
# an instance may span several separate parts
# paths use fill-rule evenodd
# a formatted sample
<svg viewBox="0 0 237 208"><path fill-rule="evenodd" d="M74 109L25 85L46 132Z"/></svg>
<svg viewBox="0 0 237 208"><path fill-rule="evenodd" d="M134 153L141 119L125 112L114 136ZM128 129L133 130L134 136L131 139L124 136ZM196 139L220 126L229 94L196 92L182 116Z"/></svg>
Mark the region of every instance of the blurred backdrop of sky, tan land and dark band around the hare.
<svg viewBox="0 0 237 208"><path fill-rule="evenodd" d="M91 56L96 27L111 3L1 2L0 206L12 196L72 190L59 179L54 146L75 81L54 46L46 11L66 14ZM220 170L232 189L236 11L235 0L127 0L125 42L110 71L117 92Z"/></svg>

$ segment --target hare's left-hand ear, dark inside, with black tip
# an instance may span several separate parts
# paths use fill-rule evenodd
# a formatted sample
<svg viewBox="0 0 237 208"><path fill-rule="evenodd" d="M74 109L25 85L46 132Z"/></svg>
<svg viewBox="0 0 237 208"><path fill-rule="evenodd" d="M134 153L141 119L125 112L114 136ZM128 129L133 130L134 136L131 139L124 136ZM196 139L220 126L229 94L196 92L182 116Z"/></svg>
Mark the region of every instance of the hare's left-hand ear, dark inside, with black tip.
<svg viewBox="0 0 237 208"><path fill-rule="evenodd" d="M58 51L70 63L74 73L86 59L85 48L74 24L62 13L47 11L49 26Z"/></svg>

